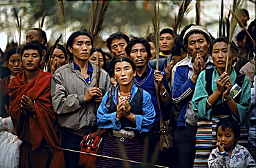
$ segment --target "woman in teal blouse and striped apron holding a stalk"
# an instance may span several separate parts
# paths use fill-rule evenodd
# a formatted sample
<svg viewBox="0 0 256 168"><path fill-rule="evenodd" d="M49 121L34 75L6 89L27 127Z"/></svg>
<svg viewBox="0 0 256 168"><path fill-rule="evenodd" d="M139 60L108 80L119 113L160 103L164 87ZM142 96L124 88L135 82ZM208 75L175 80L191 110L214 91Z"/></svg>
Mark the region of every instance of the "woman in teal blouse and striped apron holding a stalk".
<svg viewBox="0 0 256 168"><path fill-rule="evenodd" d="M232 67L237 49L232 43L228 56L228 43L228 38L223 36L212 43L210 51L216 67L201 72L196 81L192 103L199 121L194 167L207 167L207 159L217 143L217 138L214 136L217 121L232 116L239 125L242 125L250 109L250 81L247 76L237 74ZM235 93L232 92L235 85L237 85L235 90L241 91L232 96L232 93ZM241 140L246 137L243 137L242 132L239 143L244 145L245 142Z"/></svg>

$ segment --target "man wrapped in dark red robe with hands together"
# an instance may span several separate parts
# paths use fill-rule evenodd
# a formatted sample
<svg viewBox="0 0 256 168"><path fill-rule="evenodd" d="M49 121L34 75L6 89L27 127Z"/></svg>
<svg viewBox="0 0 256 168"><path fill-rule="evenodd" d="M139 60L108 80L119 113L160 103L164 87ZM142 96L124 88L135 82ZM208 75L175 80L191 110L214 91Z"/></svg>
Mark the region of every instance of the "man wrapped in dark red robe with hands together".
<svg viewBox="0 0 256 168"><path fill-rule="evenodd" d="M42 49L33 43L21 50L24 71L10 83L9 114L23 144L19 167L64 167L60 130L51 105L52 74L39 69Z"/></svg>

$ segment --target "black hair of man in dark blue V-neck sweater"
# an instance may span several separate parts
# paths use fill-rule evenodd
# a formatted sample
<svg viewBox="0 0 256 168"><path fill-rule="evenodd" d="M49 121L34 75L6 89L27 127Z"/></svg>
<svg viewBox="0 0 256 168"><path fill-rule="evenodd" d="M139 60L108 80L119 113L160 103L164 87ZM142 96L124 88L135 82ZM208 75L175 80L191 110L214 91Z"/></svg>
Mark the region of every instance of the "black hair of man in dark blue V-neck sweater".
<svg viewBox="0 0 256 168"><path fill-rule="evenodd" d="M147 52L147 59L149 59L152 54L150 52L150 44L147 42L143 37L134 37L134 39L131 39L131 41L127 44L125 48L125 52L128 56L131 54L131 48L136 45L136 43L141 43L145 46L146 52Z"/></svg>

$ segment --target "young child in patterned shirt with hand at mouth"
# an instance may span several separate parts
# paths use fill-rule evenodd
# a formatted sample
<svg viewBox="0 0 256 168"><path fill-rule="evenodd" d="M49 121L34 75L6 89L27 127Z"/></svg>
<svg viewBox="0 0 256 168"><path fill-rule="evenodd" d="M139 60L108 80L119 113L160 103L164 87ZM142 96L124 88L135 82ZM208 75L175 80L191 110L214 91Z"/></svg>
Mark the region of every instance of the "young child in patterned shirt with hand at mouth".
<svg viewBox="0 0 256 168"><path fill-rule="evenodd" d="M237 144L240 129L232 117L219 120L216 127L217 148L208 158L208 167L255 167L255 160L249 151Z"/></svg>

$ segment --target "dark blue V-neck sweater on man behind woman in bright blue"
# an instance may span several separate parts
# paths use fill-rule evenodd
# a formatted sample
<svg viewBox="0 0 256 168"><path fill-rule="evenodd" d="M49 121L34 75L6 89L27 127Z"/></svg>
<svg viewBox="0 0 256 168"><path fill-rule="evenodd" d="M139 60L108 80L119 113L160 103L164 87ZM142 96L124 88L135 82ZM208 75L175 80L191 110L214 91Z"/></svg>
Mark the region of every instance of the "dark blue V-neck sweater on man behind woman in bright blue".
<svg viewBox="0 0 256 168"><path fill-rule="evenodd" d="M159 120L159 108L158 108L158 103L157 103L157 98L156 98L154 72L155 72L155 70L153 70L151 67L147 66L147 69L145 70L145 72L143 72L143 74L141 76L138 76L138 74L136 74L136 76L134 76L134 83L136 85L138 85L138 87L149 92L149 94L151 95L154 109L156 111L156 119L155 120L158 121ZM165 77L165 73L161 72L161 74L163 75L163 85L165 86L165 89L168 92L170 90L170 88L168 86L168 83L167 83L167 80ZM170 94L170 92L168 92L168 93ZM161 98L159 101L161 101ZM170 107L167 107L168 105L170 105L170 101L168 101L167 104L161 103L161 112L162 112L163 118L165 118L165 114L167 113L167 110L170 110Z"/></svg>

